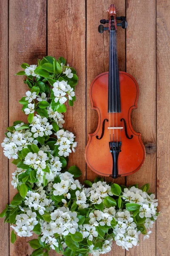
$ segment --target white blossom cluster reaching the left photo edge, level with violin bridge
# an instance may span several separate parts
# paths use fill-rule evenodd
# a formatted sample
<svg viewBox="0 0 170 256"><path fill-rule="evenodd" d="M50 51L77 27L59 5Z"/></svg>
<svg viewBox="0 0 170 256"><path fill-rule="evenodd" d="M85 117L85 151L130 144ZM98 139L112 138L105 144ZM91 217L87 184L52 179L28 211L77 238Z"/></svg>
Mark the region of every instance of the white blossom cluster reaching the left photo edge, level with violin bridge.
<svg viewBox="0 0 170 256"><path fill-rule="evenodd" d="M19 128L20 126L24 125L24 123L20 123L14 126L15 129ZM21 151L23 148L26 148L27 145L37 144L38 141L34 140L32 133L29 129L23 129L20 131L13 131L8 132L6 134L7 137L1 143L1 146L4 148L3 152L8 159L18 158L18 151Z"/></svg>

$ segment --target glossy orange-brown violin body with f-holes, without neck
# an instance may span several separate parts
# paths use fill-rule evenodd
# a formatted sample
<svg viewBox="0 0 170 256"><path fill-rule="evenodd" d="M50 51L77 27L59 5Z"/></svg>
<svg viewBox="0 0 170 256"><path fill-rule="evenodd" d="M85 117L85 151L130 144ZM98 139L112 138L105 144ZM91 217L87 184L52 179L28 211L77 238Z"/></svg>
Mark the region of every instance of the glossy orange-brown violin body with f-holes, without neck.
<svg viewBox="0 0 170 256"><path fill-rule="evenodd" d="M119 157L116 159L118 176L127 176L136 172L145 158L141 134L133 130L130 121L132 109L137 108L138 84L130 74L119 71L119 88L121 111L120 113L108 113L108 72L100 74L92 81L91 105L92 109L97 111L99 120L96 131L89 134L85 149L85 159L90 169L99 175L112 177L115 168L113 166L115 159L109 152L109 141L114 141L113 129L110 132L112 124L116 124L119 128L114 131L115 137L121 136L122 142Z"/></svg>

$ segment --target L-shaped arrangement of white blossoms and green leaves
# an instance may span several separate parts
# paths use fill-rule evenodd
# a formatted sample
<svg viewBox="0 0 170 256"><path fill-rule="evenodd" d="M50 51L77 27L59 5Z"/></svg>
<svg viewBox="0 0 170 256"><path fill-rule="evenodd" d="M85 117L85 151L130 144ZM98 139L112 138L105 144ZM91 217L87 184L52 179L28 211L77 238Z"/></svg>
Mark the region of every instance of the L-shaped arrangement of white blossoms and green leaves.
<svg viewBox="0 0 170 256"><path fill-rule="evenodd" d="M149 184L127 188L97 177L82 185L77 166L67 168L68 156L77 142L63 128L65 102L74 105L78 77L60 57L46 56L38 65L21 65L28 85L19 101L28 123L15 121L2 143L16 170L11 184L18 193L0 217L11 224L11 242L38 235L29 241L32 256L48 256L56 250L65 256L99 256L111 251L113 241L129 250L148 239L156 221L157 200Z"/></svg>

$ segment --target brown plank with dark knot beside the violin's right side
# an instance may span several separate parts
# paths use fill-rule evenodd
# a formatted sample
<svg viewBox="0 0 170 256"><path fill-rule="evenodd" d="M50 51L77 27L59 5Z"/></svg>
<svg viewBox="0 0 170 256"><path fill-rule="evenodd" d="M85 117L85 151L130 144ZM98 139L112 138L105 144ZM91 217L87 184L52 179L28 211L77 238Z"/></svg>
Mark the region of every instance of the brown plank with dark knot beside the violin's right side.
<svg viewBox="0 0 170 256"><path fill-rule="evenodd" d="M126 67L139 84L138 108L132 111L132 125L142 134L144 144L156 143L156 3L127 0ZM142 24L142 26L141 26ZM147 154L138 172L127 177L127 186L150 183L156 192L156 151ZM149 240L140 240L140 246L127 256L153 256L156 254L155 226Z"/></svg>

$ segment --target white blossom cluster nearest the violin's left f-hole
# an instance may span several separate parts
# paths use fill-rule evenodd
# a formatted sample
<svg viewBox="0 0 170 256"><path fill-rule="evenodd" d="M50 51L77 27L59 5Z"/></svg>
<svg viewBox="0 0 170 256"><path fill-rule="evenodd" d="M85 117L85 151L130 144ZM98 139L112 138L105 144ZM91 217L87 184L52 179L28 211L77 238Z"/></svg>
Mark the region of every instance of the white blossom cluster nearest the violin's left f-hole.
<svg viewBox="0 0 170 256"><path fill-rule="evenodd" d="M72 132L61 129L55 135L57 136L57 143L55 145L59 145L59 156L68 157L71 150L75 152L77 142L74 142L75 136Z"/></svg>

